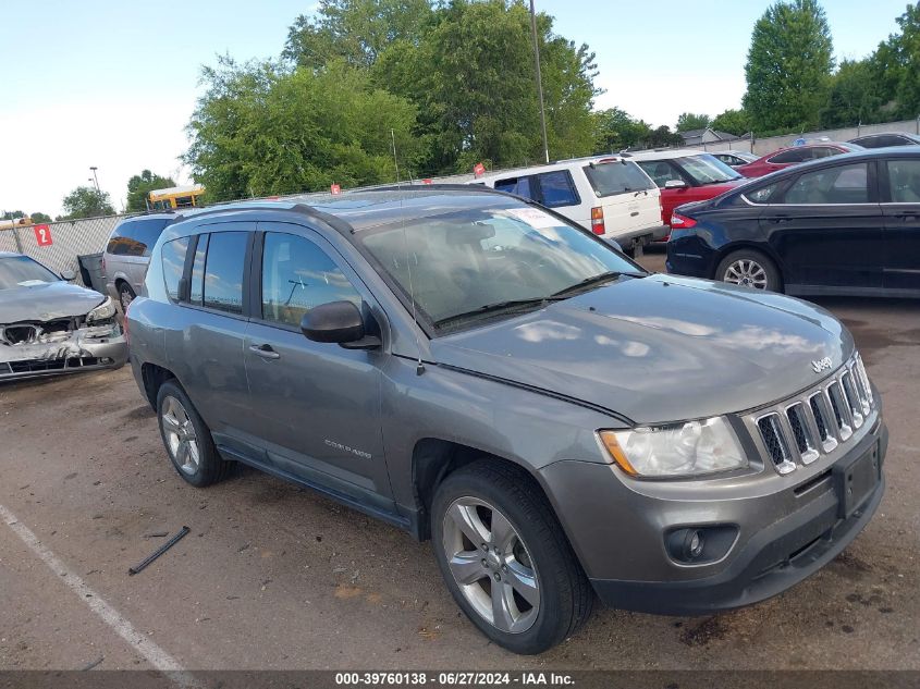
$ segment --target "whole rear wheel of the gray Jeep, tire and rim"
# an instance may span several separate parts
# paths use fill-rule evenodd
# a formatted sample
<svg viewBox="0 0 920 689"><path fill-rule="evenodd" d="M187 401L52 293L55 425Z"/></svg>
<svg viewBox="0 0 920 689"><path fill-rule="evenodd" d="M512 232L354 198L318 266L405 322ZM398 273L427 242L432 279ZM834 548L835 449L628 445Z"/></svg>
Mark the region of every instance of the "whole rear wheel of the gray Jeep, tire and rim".
<svg viewBox="0 0 920 689"><path fill-rule="evenodd" d="M198 488L226 477L231 463L218 454L210 429L174 380L160 385L157 418L167 454L179 476Z"/></svg>

